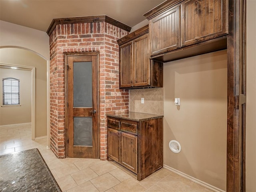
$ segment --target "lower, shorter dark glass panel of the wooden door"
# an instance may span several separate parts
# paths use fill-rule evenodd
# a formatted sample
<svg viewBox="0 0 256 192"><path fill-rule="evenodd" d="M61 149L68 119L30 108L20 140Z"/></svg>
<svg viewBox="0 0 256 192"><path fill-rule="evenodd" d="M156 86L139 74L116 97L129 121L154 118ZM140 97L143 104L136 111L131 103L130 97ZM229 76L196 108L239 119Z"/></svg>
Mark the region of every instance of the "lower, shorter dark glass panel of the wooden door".
<svg viewBox="0 0 256 192"><path fill-rule="evenodd" d="M92 146L92 117L74 117L74 145Z"/></svg>

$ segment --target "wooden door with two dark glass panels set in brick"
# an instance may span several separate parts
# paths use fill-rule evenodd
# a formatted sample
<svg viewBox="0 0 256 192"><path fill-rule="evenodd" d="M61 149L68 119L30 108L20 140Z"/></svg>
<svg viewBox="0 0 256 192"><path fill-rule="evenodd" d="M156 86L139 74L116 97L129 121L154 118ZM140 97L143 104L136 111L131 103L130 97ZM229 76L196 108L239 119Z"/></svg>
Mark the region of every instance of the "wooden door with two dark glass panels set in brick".
<svg viewBox="0 0 256 192"><path fill-rule="evenodd" d="M99 158L98 54L66 56L66 156Z"/></svg>

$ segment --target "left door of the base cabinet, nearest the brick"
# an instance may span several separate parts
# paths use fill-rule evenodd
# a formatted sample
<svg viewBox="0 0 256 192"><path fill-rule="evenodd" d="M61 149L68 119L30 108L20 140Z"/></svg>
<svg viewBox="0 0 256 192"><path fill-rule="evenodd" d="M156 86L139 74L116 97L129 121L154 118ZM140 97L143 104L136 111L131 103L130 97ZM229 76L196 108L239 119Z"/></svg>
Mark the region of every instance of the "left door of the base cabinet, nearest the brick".
<svg viewBox="0 0 256 192"><path fill-rule="evenodd" d="M119 162L120 154L120 132L108 128L108 157Z"/></svg>

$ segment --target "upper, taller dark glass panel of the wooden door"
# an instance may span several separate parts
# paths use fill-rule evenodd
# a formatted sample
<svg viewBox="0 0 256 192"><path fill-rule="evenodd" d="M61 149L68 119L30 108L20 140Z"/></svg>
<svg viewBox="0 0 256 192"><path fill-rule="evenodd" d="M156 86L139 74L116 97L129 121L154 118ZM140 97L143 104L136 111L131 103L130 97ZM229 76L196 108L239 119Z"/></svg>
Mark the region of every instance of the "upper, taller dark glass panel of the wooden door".
<svg viewBox="0 0 256 192"><path fill-rule="evenodd" d="M92 107L92 62L74 62L74 107Z"/></svg>

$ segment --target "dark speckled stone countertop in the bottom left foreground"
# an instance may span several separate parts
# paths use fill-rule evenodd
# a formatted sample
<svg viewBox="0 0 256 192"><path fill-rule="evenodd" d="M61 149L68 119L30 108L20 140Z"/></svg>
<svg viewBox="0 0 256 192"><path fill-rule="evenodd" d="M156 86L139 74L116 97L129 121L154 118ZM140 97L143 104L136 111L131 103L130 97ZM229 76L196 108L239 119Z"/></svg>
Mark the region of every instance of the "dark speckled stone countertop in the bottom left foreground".
<svg viewBox="0 0 256 192"><path fill-rule="evenodd" d="M0 156L1 192L61 192L38 149Z"/></svg>

